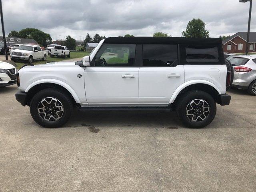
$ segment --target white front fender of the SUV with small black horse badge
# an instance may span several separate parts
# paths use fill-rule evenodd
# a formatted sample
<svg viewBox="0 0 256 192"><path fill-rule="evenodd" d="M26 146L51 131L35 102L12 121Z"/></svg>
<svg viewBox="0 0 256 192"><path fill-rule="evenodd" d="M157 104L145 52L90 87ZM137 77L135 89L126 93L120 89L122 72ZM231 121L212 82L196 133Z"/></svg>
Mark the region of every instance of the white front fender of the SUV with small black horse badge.
<svg viewBox="0 0 256 192"><path fill-rule="evenodd" d="M74 62L26 66L19 71L19 74L21 91L28 92L30 88L40 83L55 83L69 90L77 103L87 103L84 90L84 68L74 65ZM78 78L78 74L82 77Z"/></svg>

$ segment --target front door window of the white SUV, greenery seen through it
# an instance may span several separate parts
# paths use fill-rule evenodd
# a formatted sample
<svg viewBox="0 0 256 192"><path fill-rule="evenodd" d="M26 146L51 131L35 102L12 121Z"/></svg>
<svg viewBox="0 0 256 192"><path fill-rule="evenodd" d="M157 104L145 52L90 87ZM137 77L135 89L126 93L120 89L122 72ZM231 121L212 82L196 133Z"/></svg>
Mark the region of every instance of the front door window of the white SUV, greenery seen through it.
<svg viewBox="0 0 256 192"><path fill-rule="evenodd" d="M94 59L94 66L130 67L134 66L135 44L104 44Z"/></svg>

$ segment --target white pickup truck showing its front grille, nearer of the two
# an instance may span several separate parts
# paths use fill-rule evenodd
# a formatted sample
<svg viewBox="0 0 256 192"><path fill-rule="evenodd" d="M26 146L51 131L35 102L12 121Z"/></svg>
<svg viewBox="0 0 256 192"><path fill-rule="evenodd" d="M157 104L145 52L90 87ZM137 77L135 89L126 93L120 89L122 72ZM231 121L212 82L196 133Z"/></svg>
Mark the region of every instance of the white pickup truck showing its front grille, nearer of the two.
<svg viewBox="0 0 256 192"><path fill-rule="evenodd" d="M33 60L46 60L47 51L42 51L41 47L38 45L25 44L20 45L15 50L11 50L10 56L12 61L27 61L32 63Z"/></svg>

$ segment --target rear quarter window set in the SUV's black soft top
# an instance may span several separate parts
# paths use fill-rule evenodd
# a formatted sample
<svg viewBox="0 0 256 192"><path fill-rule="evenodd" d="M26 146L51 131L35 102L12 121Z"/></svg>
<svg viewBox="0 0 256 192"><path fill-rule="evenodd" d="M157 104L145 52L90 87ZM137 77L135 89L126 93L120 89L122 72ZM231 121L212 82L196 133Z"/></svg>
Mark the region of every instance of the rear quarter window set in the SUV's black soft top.
<svg viewBox="0 0 256 192"><path fill-rule="evenodd" d="M218 48L186 47L186 62L219 62Z"/></svg>

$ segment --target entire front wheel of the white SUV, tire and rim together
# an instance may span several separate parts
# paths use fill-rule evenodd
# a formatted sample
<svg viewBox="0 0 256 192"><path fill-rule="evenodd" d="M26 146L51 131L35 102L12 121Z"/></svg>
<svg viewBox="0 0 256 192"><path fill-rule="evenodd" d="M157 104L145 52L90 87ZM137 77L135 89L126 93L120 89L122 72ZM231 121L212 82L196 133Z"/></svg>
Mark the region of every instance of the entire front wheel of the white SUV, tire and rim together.
<svg viewBox="0 0 256 192"><path fill-rule="evenodd" d="M70 118L73 104L70 96L61 90L47 88L34 95L30 102L30 114L40 126L57 128Z"/></svg>

